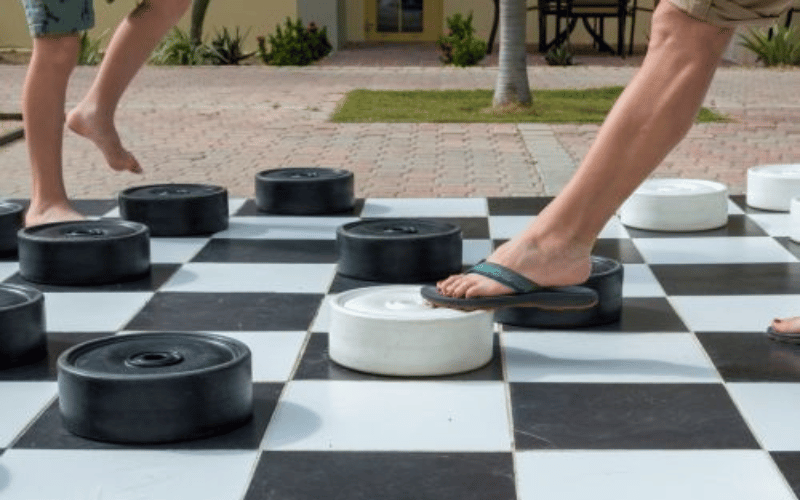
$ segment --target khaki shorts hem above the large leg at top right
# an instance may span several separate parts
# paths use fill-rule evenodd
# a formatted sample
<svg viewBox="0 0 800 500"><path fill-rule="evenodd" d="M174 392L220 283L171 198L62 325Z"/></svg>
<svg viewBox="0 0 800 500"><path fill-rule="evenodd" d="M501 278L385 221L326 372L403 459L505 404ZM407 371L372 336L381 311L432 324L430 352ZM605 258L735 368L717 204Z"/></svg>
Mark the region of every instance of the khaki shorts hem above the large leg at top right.
<svg viewBox="0 0 800 500"><path fill-rule="evenodd" d="M716 26L770 26L794 0L670 0L691 17Z"/></svg>

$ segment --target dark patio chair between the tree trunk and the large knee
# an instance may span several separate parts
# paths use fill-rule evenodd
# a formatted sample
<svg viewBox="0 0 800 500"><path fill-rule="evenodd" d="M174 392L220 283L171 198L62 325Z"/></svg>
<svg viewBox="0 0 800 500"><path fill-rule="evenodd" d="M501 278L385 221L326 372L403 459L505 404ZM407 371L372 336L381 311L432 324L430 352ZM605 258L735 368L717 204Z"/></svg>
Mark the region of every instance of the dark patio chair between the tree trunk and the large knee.
<svg viewBox="0 0 800 500"><path fill-rule="evenodd" d="M592 37L594 45L601 51L625 56L625 27L630 17L630 41L628 53L633 53L633 34L636 27L637 0L538 0L539 11L539 52L547 52L569 39L578 21L582 21L586 31ZM547 40L547 21L549 17L556 20L556 34ZM617 20L617 48L614 50L605 41L605 20ZM562 29L562 21L565 26ZM590 23L590 21L593 21Z"/></svg>

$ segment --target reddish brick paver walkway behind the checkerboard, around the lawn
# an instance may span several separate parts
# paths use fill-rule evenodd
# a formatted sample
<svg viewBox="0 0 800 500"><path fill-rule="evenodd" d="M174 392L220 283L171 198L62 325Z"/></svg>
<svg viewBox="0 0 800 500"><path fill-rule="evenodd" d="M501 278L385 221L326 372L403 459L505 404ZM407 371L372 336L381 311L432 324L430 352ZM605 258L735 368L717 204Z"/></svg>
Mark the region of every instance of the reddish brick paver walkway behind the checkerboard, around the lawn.
<svg viewBox="0 0 800 500"><path fill-rule="evenodd" d="M533 88L586 88L624 85L636 69L533 65L529 76ZM76 70L70 103L95 71ZM0 65L0 111L19 110L24 72L23 66ZM87 141L67 134L67 187L74 197L107 198L143 183L208 182L226 186L233 196L252 196L260 170L327 166L354 171L359 196L556 193L585 154L596 125L328 121L354 88L492 88L496 76L491 66L341 66L333 58L311 68L146 67L117 115L125 143L146 174L111 172ZM696 125L656 175L715 179L742 193L748 167L800 162L800 71L721 68L705 104L734 121ZM24 142L1 148L0 166L0 195L28 196Z"/></svg>

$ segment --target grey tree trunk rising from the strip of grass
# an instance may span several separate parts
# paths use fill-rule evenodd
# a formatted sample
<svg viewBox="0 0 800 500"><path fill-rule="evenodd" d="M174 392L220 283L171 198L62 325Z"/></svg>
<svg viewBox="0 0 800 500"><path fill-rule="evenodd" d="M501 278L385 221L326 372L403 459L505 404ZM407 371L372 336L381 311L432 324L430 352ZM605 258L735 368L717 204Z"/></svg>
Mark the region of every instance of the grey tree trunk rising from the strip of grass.
<svg viewBox="0 0 800 500"><path fill-rule="evenodd" d="M500 59L493 105L531 103L525 50L525 0L500 0Z"/></svg>

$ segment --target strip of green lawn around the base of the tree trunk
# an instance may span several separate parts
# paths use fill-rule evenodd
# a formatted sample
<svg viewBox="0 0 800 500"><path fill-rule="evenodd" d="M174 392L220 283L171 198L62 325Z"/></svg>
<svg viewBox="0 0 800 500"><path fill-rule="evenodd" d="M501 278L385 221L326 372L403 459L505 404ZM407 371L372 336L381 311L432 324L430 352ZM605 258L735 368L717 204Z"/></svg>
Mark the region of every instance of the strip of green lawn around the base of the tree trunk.
<svg viewBox="0 0 800 500"><path fill-rule="evenodd" d="M533 105L491 109L492 90L353 90L333 115L340 123L600 123L622 87L535 90ZM727 121L703 108L698 122Z"/></svg>

